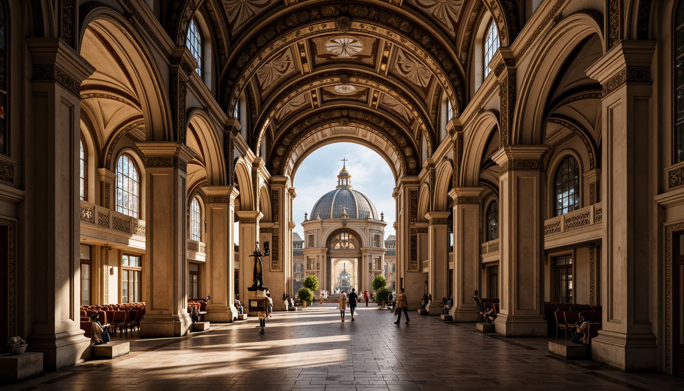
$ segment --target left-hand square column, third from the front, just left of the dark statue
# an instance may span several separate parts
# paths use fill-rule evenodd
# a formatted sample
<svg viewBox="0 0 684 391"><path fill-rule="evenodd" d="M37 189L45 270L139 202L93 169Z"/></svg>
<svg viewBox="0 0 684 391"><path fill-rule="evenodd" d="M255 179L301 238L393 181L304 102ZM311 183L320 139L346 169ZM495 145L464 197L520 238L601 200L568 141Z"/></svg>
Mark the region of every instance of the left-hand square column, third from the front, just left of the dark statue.
<svg viewBox="0 0 684 391"><path fill-rule="evenodd" d="M205 320L213 323L231 323L237 318L235 310L235 197L239 192L233 186L205 186L207 194L207 275L205 283L211 300ZM245 298L246 299L246 298ZM244 300L244 299L243 299Z"/></svg>

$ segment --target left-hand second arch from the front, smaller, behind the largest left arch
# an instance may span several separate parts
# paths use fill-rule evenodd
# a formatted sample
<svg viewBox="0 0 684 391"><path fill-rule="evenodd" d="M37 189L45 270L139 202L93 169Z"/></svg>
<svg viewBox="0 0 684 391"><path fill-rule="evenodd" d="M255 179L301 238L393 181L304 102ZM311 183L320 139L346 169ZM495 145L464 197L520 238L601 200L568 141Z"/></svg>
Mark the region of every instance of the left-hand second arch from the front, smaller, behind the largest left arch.
<svg viewBox="0 0 684 391"><path fill-rule="evenodd" d="M219 140L216 126L205 110L194 109L188 114L189 127L194 127L197 131L196 142L201 147L201 151L196 151L202 156L202 160L207 170L207 184L223 185L226 181L226 164L223 157L222 141ZM190 140L191 132L187 132L186 144L192 144ZM195 159L197 156L195 157ZM195 160L194 159L194 160Z"/></svg>

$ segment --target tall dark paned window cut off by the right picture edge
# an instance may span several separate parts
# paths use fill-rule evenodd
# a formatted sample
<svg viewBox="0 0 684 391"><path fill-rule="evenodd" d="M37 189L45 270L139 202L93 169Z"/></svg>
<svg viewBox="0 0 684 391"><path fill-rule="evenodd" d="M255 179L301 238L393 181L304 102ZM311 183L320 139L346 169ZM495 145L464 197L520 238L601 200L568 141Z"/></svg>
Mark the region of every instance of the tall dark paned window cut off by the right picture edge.
<svg viewBox="0 0 684 391"><path fill-rule="evenodd" d="M674 160L684 161L684 1L674 16Z"/></svg>

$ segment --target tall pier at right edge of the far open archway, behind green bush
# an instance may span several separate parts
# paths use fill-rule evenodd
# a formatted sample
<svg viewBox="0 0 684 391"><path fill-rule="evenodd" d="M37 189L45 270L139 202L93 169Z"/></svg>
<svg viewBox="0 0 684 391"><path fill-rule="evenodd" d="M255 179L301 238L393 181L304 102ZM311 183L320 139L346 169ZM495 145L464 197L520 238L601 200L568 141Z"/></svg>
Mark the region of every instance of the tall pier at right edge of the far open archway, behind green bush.
<svg viewBox="0 0 684 391"><path fill-rule="evenodd" d="M401 177L392 196L397 200L397 290L404 288L408 307L417 310L423 296L423 265L419 260L418 177ZM412 229L415 230L412 232Z"/></svg>

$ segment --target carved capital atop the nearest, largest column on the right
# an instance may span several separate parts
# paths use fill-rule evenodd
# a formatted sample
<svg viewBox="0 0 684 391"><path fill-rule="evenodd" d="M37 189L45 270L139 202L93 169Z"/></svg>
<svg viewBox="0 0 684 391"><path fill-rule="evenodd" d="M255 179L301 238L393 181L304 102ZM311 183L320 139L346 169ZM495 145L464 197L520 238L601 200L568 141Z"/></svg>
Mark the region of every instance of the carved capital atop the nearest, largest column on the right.
<svg viewBox="0 0 684 391"><path fill-rule="evenodd" d="M590 66L586 74L603 86L603 97L624 83L650 84L655 41L621 40Z"/></svg>

